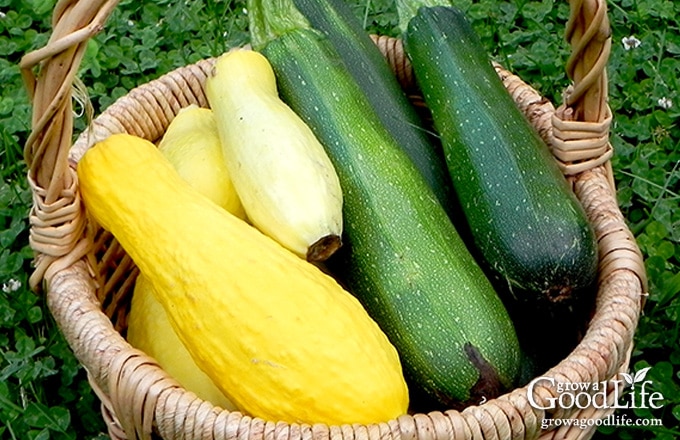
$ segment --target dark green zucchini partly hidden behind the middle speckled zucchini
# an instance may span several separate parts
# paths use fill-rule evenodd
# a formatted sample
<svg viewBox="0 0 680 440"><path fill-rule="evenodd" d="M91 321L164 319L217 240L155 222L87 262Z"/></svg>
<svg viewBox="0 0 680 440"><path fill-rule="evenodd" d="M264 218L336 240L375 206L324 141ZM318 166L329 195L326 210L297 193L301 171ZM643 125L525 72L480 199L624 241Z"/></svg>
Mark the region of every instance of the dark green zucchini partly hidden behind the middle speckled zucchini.
<svg viewBox="0 0 680 440"><path fill-rule="evenodd" d="M337 50L347 70L399 140L449 215L458 213L438 138L407 97L387 60L343 0L295 0L298 10Z"/></svg>

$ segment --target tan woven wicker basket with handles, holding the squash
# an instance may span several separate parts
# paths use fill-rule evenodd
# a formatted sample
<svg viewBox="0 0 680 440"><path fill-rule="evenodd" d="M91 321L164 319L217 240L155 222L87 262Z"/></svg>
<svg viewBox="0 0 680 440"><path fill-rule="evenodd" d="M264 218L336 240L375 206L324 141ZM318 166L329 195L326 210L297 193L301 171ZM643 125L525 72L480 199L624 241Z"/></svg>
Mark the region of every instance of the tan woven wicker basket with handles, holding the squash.
<svg viewBox="0 0 680 440"><path fill-rule="evenodd" d="M362 426L296 425L228 412L181 388L153 359L121 336L136 269L105 231L86 221L75 163L94 142L128 132L156 141L180 108L206 106L203 84L213 60L173 71L119 99L73 139L72 88L85 44L103 26L115 0L61 0L55 7L48 44L22 60L33 99L33 132L26 145L34 205L30 241L36 252L31 284L46 292L48 306L102 401L113 439L535 439L588 438L595 430L577 426L542 429L548 418L598 420L611 410L542 410L530 404L527 388L463 411L404 415ZM582 202L599 241L599 287L595 310L579 345L542 374L556 382L600 383L628 369L633 334L644 302L646 279L634 237L618 209L609 158L611 113L606 103L605 64L610 31L604 0L573 0L567 24L573 80L565 103L555 109L518 77L497 71L518 106L548 142ZM397 76L409 90L410 67L398 40L376 37ZM36 69L39 67L39 69ZM613 390L613 388L612 388ZM610 390L610 391L612 391ZM614 393L609 393L613 399ZM533 397L556 397L541 382Z"/></svg>

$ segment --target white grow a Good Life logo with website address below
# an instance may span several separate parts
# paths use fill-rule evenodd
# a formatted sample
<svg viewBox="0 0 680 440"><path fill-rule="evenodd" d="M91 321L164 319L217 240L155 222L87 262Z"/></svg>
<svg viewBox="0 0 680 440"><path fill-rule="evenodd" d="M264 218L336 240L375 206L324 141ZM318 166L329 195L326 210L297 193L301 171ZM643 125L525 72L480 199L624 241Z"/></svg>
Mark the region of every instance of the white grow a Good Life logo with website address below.
<svg viewBox="0 0 680 440"><path fill-rule="evenodd" d="M601 382L558 382L554 377L541 376L532 380L527 387L529 404L537 409L578 409L595 408L598 410L618 409L659 409L663 406L664 396L653 391L653 383L646 380L651 367L629 374L621 373L621 379L610 379ZM538 399L539 388L549 387L556 392L550 397ZM625 392L626 388L630 392ZM614 420L612 420L614 418ZM661 420L633 421L623 417L609 416L607 419L579 420L579 419L545 419L542 428L560 425L578 425L581 428L593 425L660 425Z"/></svg>

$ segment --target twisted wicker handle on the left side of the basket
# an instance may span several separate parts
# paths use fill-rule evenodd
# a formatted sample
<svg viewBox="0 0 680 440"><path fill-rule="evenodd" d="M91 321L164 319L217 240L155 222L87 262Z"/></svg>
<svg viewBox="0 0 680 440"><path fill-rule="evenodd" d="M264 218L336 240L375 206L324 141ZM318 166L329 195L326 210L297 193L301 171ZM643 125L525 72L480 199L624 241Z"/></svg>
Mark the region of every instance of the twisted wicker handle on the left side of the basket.
<svg viewBox="0 0 680 440"><path fill-rule="evenodd" d="M46 46L26 54L21 74L33 105L32 131L24 147L33 193L29 241L36 253L29 284L34 290L49 273L67 267L87 253L79 242L85 227L69 167L73 142L71 88L76 82L87 41L104 26L117 0L59 0ZM36 72L37 71L37 72ZM53 263L59 264L53 265Z"/></svg>

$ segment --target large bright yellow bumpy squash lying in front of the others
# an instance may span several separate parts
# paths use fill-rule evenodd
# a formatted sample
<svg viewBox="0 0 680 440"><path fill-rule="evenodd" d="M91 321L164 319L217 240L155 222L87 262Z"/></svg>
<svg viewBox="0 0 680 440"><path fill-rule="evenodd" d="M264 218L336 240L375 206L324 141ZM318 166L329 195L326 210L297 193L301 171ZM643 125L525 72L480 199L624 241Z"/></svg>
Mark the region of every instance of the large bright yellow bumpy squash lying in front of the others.
<svg viewBox="0 0 680 440"><path fill-rule="evenodd" d="M114 135L78 164L94 219L144 273L191 356L238 408L271 421L404 414L399 357L314 265L200 195L145 140Z"/></svg>

